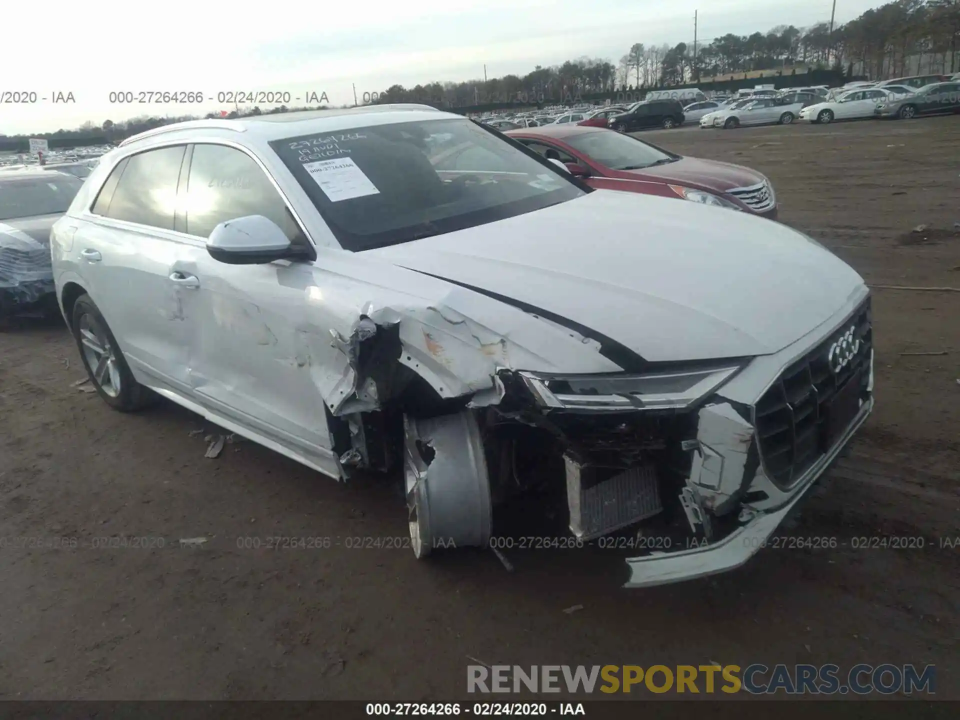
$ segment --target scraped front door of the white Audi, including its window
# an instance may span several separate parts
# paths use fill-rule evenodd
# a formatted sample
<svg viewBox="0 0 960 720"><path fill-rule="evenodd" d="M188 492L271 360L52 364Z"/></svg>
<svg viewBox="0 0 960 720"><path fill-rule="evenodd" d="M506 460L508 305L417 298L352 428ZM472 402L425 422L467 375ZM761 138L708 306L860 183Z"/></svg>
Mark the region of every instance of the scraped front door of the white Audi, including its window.
<svg viewBox="0 0 960 720"><path fill-rule="evenodd" d="M193 146L181 206L184 231L198 240L224 221L263 215L312 250L266 171L236 148ZM311 360L319 338L330 342L323 313L312 313L324 296L313 263L228 265L202 252L178 270L200 283L190 359L200 401L337 474Z"/></svg>

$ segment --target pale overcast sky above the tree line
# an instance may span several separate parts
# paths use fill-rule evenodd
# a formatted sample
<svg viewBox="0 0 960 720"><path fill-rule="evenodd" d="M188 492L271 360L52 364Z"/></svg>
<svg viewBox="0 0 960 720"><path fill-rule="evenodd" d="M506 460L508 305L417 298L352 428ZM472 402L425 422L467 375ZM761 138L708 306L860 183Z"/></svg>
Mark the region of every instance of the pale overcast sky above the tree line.
<svg viewBox="0 0 960 720"><path fill-rule="evenodd" d="M836 23L880 5L839 0ZM784 24L828 21L831 0L210 0L97 4L16 2L3 12L0 92L72 92L75 104L0 105L0 132L50 132L84 121L205 114L230 90L326 93L331 105L391 84L508 73L582 56L616 63L635 42L671 45ZM253 13L253 8L257 13ZM202 106L120 106L111 90L187 90ZM296 105L296 103L294 103ZM232 109L232 108L223 108Z"/></svg>

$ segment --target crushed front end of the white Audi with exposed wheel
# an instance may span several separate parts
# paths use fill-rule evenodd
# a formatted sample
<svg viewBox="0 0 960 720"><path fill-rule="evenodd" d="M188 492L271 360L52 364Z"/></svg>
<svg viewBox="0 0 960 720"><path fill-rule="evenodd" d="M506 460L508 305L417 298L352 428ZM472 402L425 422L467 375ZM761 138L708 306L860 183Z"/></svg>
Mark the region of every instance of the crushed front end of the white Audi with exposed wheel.
<svg viewBox="0 0 960 720"><path fill-rule="evenodd" d="M333 338L344 368L327 389L334 449L344 474L402 465L418 557L487 546L494 513L534 498L577 544L627 550L626 587L729 570L873 407L869 300L799 353L641 361L640 372L601 357L603 339L522 314L603 372L558 372L543 348L450 306L369 309ZM516 370L535 362L549 370Z"/></svg>

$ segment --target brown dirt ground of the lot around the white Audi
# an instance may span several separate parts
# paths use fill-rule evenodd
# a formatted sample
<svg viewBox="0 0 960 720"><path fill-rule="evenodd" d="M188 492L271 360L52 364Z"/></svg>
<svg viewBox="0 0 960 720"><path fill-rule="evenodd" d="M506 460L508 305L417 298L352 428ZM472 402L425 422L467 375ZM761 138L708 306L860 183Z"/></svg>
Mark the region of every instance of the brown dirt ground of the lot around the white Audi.
<svg viewBox="0 0 960 720"><path fill-rule="evenodd" d="M781 221L872 285L960 287L960 117L643 136L767 174ZM875 414L789 531L838 547L646 590L594 549L509 552L513 573L490 551L348 549L405 535L394 488L250 443L206 459L201 418L71 387L60 323L0 333L0 699L465 699L471 658L935 663L937 697L960 699L960 548L942 546L960 539L960 293L877 288L874 308ZM273 536L333 540L243 547ZM924 548L850 544L887 536Z"/></svg>

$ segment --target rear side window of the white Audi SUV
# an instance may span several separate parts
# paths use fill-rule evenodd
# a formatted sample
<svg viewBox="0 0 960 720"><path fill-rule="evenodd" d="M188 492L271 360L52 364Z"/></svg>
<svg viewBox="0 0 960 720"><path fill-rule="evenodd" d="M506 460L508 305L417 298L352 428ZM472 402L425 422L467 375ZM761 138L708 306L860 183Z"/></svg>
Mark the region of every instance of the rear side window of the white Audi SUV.
<svg viewBox="0 0 960 720"><path fill-rule="evenodd" d="M129 157L104 214L115 220L172 230L185 150L186 146L178 145Z"/></svg>

